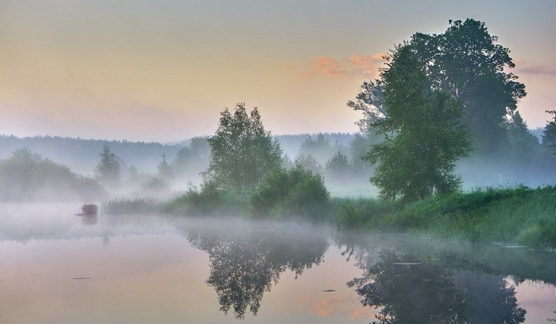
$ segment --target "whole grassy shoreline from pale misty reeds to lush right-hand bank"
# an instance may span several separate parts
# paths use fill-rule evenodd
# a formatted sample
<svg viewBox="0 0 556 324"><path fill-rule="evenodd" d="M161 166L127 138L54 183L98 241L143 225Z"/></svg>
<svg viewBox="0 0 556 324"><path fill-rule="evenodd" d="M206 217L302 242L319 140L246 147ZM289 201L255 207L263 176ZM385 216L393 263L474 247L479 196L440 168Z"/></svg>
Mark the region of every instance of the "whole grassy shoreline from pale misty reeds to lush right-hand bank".
<svg viewBox="0 0 556 324"><path fill-rule="evenodd" d="M556 187L487 188L402 204L373 198L329 198L306 206L279 203L275 212L257 215L253 193L207 186L169 202L116 200L104 213L171 213L188 216L296 216L333 222L340 229L416 232L463 241L503 241L556 248ZM289 200L284 200L289 202ZM282 213L280 213L282 212Z"/></svg>

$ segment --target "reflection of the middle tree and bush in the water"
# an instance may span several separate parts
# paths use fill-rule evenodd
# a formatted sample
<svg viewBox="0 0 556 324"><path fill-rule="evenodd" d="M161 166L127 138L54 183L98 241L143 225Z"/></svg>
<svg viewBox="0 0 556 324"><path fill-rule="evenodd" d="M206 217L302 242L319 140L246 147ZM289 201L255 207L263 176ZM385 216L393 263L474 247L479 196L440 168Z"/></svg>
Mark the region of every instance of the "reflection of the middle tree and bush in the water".
<svg viewBox="0 0 556 324"><path fill-rule="evenodd" d="M326 234L303 226L273 227L189 232L190 243L209 255L206 283L214 287L224 314L231 309L236 318L244 318L249 308L256 315L263 294L277 284L281 273L289 269L297 277L322 262L328 248Z"/></svg>

